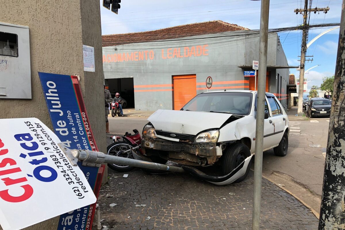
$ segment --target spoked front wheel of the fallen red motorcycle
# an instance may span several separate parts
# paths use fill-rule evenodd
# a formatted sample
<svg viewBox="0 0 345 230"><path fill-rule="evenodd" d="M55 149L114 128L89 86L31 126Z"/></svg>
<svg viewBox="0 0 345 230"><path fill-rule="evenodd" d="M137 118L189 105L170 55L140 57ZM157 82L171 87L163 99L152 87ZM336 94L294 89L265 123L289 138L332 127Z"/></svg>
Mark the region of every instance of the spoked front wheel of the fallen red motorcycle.
<svg viewBox="0 0 345 230"><path fill-rule="evenodd" d="M129 149L129 144L126 141L116 141L107 147L107 154L111 156L134 159L132 152L126 154L120 153L120 151L126 151ZM122 164L108 164L108 167L118 172L127 172L135 168L132 166L126 166Z"/></svg>

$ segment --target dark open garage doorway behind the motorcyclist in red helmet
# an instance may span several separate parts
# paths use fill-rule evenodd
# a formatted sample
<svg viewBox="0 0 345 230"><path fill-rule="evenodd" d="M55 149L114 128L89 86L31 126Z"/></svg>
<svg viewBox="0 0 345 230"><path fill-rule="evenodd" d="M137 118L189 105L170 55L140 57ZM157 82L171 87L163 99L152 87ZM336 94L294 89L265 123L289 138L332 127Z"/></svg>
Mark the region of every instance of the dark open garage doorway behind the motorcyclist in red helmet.
<svg viewBox="0 0 345 230"><path fill-rule="evenodd" d="M108 85L112 99L115 98L115 94L118 92L124 99L122 103L123 108L134 108L134 83L133 78L115 78L105 79L106 85Z"/></svg>

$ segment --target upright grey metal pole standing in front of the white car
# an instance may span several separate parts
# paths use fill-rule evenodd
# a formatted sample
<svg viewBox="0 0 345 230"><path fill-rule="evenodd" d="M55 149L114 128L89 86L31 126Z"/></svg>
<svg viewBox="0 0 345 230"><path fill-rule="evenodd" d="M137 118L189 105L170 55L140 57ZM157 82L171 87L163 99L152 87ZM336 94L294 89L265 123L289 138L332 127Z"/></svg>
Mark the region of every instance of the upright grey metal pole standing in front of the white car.
<svg viewBox="0 0 345 230"><path fill-rule="evenodd" d="M265 89L267 71L267 40L268 40L268 13L269 0L261 1L260 40L259 40L259 75L256 106L256 133L255 133L255 163L254 163L254 193L253 193L253 222L252 230L260 226L262 156L264 144L265 118Z"/></svg>

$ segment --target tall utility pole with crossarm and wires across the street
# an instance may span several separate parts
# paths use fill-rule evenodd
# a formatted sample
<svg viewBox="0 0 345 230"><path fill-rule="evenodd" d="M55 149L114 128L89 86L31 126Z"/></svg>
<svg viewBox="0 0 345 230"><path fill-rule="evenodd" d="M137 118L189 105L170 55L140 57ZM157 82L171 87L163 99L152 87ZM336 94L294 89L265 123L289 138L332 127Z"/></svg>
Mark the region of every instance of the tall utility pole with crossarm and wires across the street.
<svg viewBox="0 0 345 230"><path fill-rule="evenodd" d="M300 70L299 70L299 90L298 90L298 116L303 115L303 88L304 88L304 66L305 66L305 53L307 52L307 40L309 31L308 13L310 12L324 12L327 13L329 7L326 8L309 8L308 0L304 1L304 9L295 9L296 14L300 13L303 15L303 29L302 29L302 44L301 44L301 60L300 60ZM309 60L308 60L309 61Z"/></svg>

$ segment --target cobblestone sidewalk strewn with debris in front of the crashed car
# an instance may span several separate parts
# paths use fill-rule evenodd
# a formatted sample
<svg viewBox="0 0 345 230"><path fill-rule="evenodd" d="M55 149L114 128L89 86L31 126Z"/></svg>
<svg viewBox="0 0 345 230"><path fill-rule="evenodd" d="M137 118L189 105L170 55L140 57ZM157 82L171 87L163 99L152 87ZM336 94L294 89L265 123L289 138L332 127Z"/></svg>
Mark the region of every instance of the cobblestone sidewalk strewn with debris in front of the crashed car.
<svg viewBox="0 0 345 230"><path fill-rule="evenodd" d="M108 172L98 203L109 229L251 229L252 171L243 182L227 186L182 173L136 168L123 178L124 173ZM261 229L317 229L317 218L293 196L266 179L262 188Z"/></svg>

